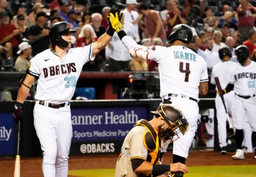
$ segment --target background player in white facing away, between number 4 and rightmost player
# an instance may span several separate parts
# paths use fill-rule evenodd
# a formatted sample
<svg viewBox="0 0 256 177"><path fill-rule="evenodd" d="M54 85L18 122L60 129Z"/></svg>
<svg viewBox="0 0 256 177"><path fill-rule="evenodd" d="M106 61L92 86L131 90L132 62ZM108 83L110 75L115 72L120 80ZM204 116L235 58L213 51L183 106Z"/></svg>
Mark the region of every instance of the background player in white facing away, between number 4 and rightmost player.
<svg viewBox="0 0 256 177"><path fill-rule="evenodd" d="M231 51L228 47L223 47L219 49L219 57L222 62L213 66L212 75L211 75L211 83L216 85L214 78L218 77L220 81L221 88L225 88L228 85L230 79L231 69L237 64L235 62L230 61L230 57L232 56ZM218 88L216 87L216 90ZM234 98L234 91L230 91L228 94L223 95L225 104L227 107L227 111L231 112L232 101ZM227 154L227 115L225 108L223 106L221 97L219 94L216 94L215 98L215 107L217 110L217 120L218 120L218 136L219 136L219 144L221 148L221 155Z"/></svg>

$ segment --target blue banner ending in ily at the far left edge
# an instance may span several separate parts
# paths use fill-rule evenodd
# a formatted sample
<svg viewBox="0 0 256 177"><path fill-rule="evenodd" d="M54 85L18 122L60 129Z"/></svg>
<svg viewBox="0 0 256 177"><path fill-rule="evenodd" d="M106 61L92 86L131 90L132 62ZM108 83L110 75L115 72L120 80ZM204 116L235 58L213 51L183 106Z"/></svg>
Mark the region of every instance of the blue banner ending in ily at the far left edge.
<svg viewBox="0 0 256 177"><path fill-rule="evenodd" d="M0 155L14 155L12 113L0 113Z"/></svg>

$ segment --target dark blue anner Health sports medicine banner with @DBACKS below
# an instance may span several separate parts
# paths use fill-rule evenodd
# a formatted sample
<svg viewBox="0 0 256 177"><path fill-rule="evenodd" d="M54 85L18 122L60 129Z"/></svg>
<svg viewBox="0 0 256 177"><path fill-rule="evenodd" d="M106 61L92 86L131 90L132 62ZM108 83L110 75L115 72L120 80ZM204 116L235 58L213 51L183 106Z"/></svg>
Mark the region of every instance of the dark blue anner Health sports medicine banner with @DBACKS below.
<svg viewBox="0 0 256 177"><path fill-rule="evenodd" d="M147 106L74 107L70 153L119 153L126 134L140 119L148 119Z"/></svg>

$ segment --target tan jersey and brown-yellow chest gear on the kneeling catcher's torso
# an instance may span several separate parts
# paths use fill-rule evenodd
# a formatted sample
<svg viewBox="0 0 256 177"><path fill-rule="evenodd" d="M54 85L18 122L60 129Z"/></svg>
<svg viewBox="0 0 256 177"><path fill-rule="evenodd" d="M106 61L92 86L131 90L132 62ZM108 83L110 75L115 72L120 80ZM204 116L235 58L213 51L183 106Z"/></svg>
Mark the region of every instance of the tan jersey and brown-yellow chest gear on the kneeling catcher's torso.
<svg viewBox="0 0 256 177"><path fill-rule="evenodd" d="M140 158L152 164L159 161L158 132L146 120L140 120L136 125L124 139L121 154L116 162L115 177L146 176L133 172L131 159Z"/></svg>

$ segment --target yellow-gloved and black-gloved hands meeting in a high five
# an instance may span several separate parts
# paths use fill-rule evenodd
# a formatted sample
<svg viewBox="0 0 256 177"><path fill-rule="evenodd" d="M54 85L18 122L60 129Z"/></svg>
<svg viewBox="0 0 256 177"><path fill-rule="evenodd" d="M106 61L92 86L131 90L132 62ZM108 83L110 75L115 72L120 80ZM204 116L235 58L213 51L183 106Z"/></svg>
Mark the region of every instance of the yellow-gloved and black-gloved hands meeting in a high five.
<svg viewBox="0 0 256 177"><path fill-rule="evenodd" d="M124 30L122 23L120 22L123 13L120 14L119 9L115 9L114 12L110 12L108 16L108 22L111 27L118 33L119 31Z"/></svg>

